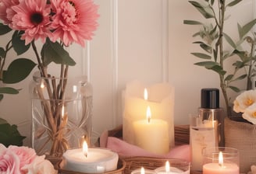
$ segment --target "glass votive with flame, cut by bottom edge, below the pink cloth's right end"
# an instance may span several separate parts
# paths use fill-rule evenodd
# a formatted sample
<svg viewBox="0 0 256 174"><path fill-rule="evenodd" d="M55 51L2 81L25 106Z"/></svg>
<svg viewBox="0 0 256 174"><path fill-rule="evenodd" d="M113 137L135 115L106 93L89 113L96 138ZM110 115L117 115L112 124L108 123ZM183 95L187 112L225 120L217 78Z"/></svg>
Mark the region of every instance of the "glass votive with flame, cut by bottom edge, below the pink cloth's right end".
<svg viewBox="0 0 256 174"><path fill-rule="evenodd" d="M165 162L165 166L155 169L157 174L190 174L190 162L183 159L171 159Z"/></svg>

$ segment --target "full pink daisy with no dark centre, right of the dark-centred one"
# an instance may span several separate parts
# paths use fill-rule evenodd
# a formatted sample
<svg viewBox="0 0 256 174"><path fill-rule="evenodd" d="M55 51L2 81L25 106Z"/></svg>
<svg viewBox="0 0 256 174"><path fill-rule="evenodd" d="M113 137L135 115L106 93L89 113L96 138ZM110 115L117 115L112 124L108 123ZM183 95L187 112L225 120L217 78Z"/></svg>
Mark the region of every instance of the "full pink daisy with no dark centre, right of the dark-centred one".
<svg viewBox="0 0 256 174"><path fill-rule="evenodd" d="M84 40L91 40L98 23L98 5L92 0L51 0L54 34L51 40L60 38L69 46L73 42L84 47Z"/></svg>

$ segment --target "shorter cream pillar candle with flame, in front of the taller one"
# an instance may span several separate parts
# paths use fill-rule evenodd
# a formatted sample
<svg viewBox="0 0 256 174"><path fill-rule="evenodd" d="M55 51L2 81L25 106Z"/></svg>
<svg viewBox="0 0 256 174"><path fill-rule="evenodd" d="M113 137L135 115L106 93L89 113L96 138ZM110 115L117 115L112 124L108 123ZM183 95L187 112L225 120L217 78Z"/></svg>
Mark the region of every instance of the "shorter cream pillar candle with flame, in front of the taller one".
<svg viewBox="0 0 256 174"><path fill-rule="evenodd" d="M166 121L151 119L150 107L147 119L133 122L135 144L155 154L169 152L169 126Z"/></svg>

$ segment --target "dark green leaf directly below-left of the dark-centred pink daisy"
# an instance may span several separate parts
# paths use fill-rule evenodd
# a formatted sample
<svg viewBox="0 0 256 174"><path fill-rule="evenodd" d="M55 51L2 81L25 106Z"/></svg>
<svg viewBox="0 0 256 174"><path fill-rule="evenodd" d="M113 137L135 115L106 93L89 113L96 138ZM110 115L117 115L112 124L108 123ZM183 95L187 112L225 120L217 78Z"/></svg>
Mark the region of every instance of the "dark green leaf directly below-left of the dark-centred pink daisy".
<svg viewBox="0 0 256 174"><path fill-rule="evenodd" d="M25 40L21 40L21 33L18 31L12 34L12 46L18 55L23 54L30 49L30 44L25 45Z"/></svg>

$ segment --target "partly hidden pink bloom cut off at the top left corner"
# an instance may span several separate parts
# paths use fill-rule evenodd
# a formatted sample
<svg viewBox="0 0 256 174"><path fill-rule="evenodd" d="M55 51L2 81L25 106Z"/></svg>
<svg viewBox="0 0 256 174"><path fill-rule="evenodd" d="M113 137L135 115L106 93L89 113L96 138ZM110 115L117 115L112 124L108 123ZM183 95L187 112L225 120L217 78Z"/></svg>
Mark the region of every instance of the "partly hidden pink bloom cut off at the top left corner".
<svg viewBox="0 0 256 174"><path fill-rule="evenodd" d="M0 19L5 24L12 23L12 16L14 15L12 6L18 5L19 3L19 0L0 0Z"/></svg>

